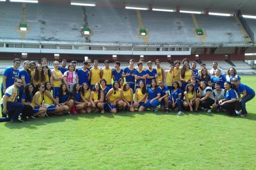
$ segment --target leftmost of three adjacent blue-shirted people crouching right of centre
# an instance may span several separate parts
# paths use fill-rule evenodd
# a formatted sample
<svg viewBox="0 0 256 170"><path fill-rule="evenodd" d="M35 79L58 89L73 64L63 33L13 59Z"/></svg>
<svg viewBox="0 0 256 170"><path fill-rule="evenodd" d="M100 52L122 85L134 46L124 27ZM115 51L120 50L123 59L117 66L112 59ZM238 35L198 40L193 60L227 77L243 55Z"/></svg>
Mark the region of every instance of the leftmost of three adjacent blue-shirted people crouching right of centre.
<svg viewBox="0 0 256 170"><path fill-rule="evenodd" d="M157 112L157 106L161 104L161 102L158 101L159 98L160 94L157 95L156 80L152 79L150 87L147 88L146 107L151 108L151 111Z"/></svg>

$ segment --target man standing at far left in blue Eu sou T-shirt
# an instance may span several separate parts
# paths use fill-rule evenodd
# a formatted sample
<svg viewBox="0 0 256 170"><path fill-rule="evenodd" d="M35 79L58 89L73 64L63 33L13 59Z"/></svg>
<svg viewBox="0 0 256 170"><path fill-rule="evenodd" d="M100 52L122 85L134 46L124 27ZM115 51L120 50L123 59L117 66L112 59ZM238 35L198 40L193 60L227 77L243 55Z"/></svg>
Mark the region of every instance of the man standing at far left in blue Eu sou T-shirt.
<svg viewBox="0 0 256 170"><path fill-rule="evenodd" d="M18 68L20 67L20 59L15 58L13 59L13 66L7 67L3 71L3 79L1 84L1 93L2 97L5 94L5 91L8 87L14 84L14 80L17 79L20 75L20 71Z"/></svg>

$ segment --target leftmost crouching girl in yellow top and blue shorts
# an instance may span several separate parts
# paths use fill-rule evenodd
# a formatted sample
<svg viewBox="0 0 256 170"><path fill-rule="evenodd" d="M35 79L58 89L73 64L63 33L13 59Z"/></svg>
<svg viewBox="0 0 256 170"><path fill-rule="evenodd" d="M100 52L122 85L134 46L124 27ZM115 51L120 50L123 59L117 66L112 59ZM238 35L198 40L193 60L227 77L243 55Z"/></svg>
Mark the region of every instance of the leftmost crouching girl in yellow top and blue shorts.
<svg viewBox="0 0 256 170"><path fill-rule="evenodd" d="M47 107L43 106L43 98L44 98L44 84L40 83L37 85L37 92L32 98L31 104L34 106L33 108L33 117L32 118L37 118L37 117L44 117L45 112L47 111Z"/></svg>

